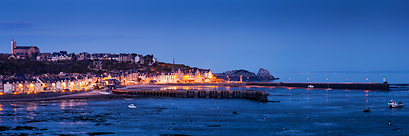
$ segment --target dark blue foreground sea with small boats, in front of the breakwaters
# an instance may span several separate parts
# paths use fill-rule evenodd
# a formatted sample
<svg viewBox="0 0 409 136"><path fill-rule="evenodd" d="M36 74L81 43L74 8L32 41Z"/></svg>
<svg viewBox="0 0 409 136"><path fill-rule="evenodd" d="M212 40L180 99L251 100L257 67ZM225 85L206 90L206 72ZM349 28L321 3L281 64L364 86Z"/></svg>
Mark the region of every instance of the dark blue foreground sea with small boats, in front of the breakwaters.
<svg viewBox="0 0 409 136"><path fill-rule="evenodd" d="M201 86L189 89L192 88L216 87ZM100 98L8 102L0 105L2 126L0 133L3 135L409 133L409 108L387 107L387 102L391 99L409 102L408 91L326 91L273 87L217 87L217 89L265 90L270 94L270 100L280 102L160 97L133 100ZM129 109L128 104L135 104L137 108ZM371 111L363 112L364 109Z"/></svg>

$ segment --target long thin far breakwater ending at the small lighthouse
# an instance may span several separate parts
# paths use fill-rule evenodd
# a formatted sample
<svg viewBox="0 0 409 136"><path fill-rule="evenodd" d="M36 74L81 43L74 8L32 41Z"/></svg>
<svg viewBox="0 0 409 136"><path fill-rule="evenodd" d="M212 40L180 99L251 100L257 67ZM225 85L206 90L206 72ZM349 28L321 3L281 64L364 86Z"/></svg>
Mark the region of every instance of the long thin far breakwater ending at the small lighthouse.
<svg viewBox="0 0 409 136"><path fill-rule="evenodd" d="M303 87L307 88L313 85L314 88L332 88L332 89L358 89L358 90L389 90L389 84L384 83L272 83L272 82L248 82L247 85L258 86L285 86L285 87Z"/></svg>

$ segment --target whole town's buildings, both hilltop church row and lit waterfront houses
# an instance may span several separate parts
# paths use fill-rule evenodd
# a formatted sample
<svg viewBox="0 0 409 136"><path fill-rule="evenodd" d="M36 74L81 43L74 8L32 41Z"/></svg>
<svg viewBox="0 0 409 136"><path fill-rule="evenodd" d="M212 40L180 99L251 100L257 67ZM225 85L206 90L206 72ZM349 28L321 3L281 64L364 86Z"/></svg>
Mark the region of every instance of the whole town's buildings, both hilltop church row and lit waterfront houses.
<svg viewBox="0 0 409 136"><path fill-rule="evenodd" d="M53 53L40 53L36 46L17 46L12 39L11 52L7 59L32 59L33 61L64 62L94 60L92 67L88 69L102 71L100 74L88 73L64 73L59 74L14 74L0 75L0 93L38 93L47 91L80 91L98 88L110 84L108 81L115 80L116 85L155 84L155 83L210 83L220 82L210 69L198 68L174 68L170 72L146 73L141 69L109 71L102 67L103 61L129 62L147 64L151 66L157 63L153 55L140 55L135 53L94 53L87 52L75 55L66 51ZM147 62L145 62L147 61ZM162 64L163 65L163 64Z"/></svg>

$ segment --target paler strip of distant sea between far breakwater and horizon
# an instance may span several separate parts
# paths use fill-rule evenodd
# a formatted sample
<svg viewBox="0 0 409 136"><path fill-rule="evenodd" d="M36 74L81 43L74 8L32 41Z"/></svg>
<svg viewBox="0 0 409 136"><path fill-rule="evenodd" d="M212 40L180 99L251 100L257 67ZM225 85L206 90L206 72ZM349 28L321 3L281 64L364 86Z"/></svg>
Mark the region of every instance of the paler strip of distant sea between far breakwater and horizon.
<svg viewBox="0 0 409 136"><path fill-rule="evenodd" d="M356 82L382 83L385 76L388 83L409 83L409 72L281 72L272 73L280 78L274 82ZM328 79L328 80L327 80Z"/></svg>

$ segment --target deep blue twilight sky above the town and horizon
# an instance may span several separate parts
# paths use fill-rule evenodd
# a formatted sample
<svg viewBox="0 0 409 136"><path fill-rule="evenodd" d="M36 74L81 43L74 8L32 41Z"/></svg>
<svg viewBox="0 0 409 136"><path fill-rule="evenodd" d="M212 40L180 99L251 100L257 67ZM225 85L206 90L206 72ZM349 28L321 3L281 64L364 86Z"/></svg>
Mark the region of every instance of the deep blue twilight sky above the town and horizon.
<svg viewBox="0 0 409 136"><path fill-rule="evenodd" d="M409 1L0 1L0 52L154 54L213 72L408 71Z"/></svg>

